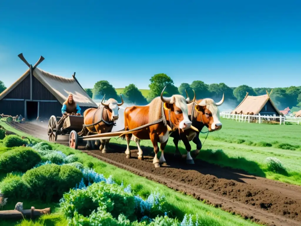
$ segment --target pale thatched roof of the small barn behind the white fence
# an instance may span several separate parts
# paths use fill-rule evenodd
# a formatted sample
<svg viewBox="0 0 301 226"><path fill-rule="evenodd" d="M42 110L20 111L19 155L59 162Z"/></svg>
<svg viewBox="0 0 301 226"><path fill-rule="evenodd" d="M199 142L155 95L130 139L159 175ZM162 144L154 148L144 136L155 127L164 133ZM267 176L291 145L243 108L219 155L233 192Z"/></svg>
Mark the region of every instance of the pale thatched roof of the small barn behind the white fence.
<svg viewBox="0 0 301 226"><path fill-rule="evenodd" d="M272 91L271 91L272 93ZM270 93L270 94L271 94ZM249 93L245 96L242 102L231 112L231 114L235 114L235 111L237 114L239 114L241 111L244 115L251 114L253 112L253 115L257 115L261 109L265 106L265 104L270 101L272 106L275 108L277 113L281 115L281 112L278 110L278 108L275 106L273 101L270 98L270 94L261 95L261 96L248 96Z"/></svg>

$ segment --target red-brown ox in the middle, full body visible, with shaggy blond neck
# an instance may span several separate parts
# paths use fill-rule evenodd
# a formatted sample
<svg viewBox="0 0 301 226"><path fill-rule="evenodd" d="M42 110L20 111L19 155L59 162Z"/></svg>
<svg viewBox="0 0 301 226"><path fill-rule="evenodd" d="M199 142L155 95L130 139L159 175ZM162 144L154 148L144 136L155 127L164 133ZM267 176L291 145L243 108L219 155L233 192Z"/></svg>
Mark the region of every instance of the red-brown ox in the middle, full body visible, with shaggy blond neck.
<svg viewBox="0 0 301 226"><path fill-rule="evenodd" d="M165 89L165 88L164 88ZM181 95L173 95L169 98L163 97L163 92L160 97L155 98L149 105L146 106L132 106L127 107L124 111L124 126L126 130L133 130L137 127L146 125L152 121L153 115L157 115L158 111L161 111L162 102L164 103L164 117L167 124L172 125L175 128L180 128L183 130L189 129L191 127L191 121L188 118L188 108L189 98L185 99ZM195 96L193 101L195 100ZM169 117L170 111L170 117ZM161 115L162 116L162 115ZM154 117L155 119L158 119ZM170 118L170 119L169 119ZM171 131L164 125L163 122L154 124L143 129L133 131L132 133L126 134L125 139L127 141L127 149L125 151L126 158L131 157L131 151L129 149L129 143L132 135L141 140L151 140L154 146L155 157L153 164L155 167L160 167L160 164L166 164L164 159L164 149L168 141ZM159 152L158 142L161 143L160 151L162 152L160 160L157 157ZM140 140L136 142L138 147L138 159L143 159L143 152L140 147Z"/></svg>

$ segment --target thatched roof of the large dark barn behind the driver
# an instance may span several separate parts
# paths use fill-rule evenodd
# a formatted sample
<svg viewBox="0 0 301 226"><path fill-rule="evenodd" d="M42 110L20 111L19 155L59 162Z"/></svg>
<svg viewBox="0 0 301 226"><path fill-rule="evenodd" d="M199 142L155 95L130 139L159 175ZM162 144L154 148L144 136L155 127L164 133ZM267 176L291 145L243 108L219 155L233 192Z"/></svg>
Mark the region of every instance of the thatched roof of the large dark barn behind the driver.
<svg viewBox="0 0 301 226"><path fill-rule="evenodd" d="M5 89L0 94L0 100L10 93L17 85L19 85L30 72L27 70L16 82ZM55 98L63 104L68 98L69 93L73 94L73 98L79 106L82 107L98 107L96 103L88 96L75 77L64 78L61 76L50 74L39 68L33 70L33 76L42 83Z"/></svg>

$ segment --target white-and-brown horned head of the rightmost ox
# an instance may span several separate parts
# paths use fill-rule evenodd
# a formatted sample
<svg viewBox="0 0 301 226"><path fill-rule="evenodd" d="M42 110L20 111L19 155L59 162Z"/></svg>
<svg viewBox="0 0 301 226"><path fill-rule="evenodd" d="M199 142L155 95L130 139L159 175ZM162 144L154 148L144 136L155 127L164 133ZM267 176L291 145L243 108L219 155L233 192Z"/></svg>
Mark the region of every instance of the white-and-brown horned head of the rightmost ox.
<svg viewBox="0 0 301 226"><path fill-rule="evenodd" d="M219 109L217 106L220 106L224 102L224 99L224 94L222 100L218 103L214 102L213 99L206 98L201 100L195 106L195 109L200 112L201 121L208 127L210 132L222 128L222 123L219 121Z"/></svg>

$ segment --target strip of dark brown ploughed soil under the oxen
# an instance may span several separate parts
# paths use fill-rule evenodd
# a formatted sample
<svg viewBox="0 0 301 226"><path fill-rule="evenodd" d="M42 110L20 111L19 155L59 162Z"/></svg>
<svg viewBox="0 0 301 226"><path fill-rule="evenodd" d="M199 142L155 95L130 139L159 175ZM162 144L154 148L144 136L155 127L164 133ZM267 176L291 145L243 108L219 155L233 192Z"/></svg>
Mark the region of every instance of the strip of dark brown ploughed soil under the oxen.
<svg viewBox="0 0 301 226"><path fill-rule="evenodd" d="M34 124L13 126L39 138L42 138L42 134L47 136L47 129ZM67 145L63 139L64 137L57 142ZM240 214L245 219L267 225L301 225L300 186L247 175L199 159L195 160L194 165L187 165L182 159L175 159L173 155L167 153L164 157L169 165L154 168L153 148L142 146L144 161L140 161L137 158L138 150L135 143L131 144L133 145L130 146L131 159L126 159L124 154L126 145L110 144L113 151L106 154L99 150L88 151L84 146L79 146L78 149L119 168L182 191L198 200L206 200L216 207Z"/></svg>

